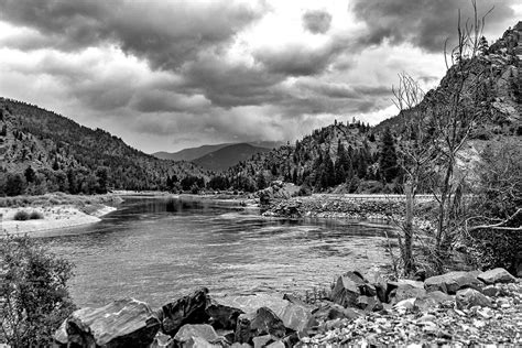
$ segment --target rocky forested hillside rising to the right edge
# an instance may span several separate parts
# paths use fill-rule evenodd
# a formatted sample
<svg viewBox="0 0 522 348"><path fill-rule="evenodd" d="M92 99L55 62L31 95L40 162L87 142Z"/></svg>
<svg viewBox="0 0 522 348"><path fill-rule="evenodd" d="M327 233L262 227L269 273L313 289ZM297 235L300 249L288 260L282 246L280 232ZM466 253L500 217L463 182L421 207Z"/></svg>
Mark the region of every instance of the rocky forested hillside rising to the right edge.
<svg viewBox="0 0 522 348"><path fill-rule="evenodd" d="M509 139L520 143L521 41L521 22L491 46L482 36L480 52L471 59L453 62L455 65L437 88L426 94L415 90L418 105L404 107L398 116L376 127L355 120L349 124L335 122L294 145L254 155L215 181L249 192L261 189L273 180L303 185L304 193L401 192L402 168L411 164L407 150L416 148L417 154L426 156L429 152L420 151L444 150L448 145L445 132L465 137L456 161L472 171L468 162L489 144ZM415 83L409 83L413 88ZM458 137L461 135L453 139L456 144ZM427 163L429 159L424 160ZM432 174L438 175L437 163L432 164Z"/></svg>

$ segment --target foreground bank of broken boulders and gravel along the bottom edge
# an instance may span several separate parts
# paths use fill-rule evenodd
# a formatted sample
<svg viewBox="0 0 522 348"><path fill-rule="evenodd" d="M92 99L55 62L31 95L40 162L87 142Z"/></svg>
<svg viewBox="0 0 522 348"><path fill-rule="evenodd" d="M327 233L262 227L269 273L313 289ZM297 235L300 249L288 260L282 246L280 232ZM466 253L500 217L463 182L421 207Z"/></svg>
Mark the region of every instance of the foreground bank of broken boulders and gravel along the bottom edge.
<svg viewBox="0 0 522 348"><path fill-rule="evenodd" d="M385 281L347 272L331 291L214 297L207 289L157 312L135 300L74 312L57 347L318 347L522 344L522 285L503 269Z"/></svg>

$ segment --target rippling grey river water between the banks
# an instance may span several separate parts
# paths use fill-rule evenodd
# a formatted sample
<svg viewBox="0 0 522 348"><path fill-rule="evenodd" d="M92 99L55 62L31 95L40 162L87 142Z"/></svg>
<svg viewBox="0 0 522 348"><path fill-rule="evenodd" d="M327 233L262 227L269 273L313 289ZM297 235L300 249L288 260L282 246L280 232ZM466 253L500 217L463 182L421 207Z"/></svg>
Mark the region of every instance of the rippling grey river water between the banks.
<svg viewBox="0 0 522 348"><path fill-rule="evenodd" d="M388 261L382 230L349 221L268 219L177 198L127 198L100 222L46 233L73 261L79 306L131 296L159 307L210 293L304 292Z"/></svg>

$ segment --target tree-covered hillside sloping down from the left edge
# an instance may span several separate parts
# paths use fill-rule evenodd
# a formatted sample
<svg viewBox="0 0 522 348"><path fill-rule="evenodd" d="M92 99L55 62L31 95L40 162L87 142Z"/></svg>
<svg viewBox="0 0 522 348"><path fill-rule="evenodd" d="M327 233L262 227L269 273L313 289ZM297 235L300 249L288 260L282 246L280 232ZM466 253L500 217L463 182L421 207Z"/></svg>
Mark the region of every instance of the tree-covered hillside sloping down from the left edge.
<svg viewBox="0 0 522 348"><path fill-rule="evenodd" d="M0 195L166 189L205 176L189 162L155 159L54 112L0 98ZM168 183L167 183L168 182Z"/></svg>

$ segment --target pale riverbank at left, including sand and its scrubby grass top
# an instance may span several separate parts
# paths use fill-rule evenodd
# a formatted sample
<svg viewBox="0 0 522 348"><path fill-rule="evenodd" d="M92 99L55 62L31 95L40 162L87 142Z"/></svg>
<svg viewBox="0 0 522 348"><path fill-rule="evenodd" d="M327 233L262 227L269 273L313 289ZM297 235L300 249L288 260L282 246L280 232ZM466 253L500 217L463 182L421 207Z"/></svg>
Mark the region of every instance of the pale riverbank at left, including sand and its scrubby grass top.
<svg viewBox="0 0 522 348"><path fill-rule="evenodd" d="M31 235L94 224L100 221L102 216L115 211L121 202L121 197L112 194L97 196L47 194L1 198L0 230L10 235Z"/></svg>

